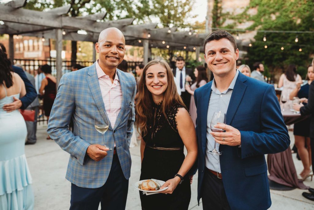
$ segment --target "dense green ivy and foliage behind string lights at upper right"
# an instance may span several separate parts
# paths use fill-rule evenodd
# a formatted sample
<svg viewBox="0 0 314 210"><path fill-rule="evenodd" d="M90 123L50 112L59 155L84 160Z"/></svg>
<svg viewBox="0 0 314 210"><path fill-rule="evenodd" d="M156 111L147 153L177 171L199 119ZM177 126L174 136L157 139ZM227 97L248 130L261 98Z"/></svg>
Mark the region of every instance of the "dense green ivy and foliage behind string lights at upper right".
<svg viewBox="0 0 314 210"><path fill-rule="evenodd" d="M239 22L253 21L253 24L247 28L248 30L314 32L313 8L312 0L251 0L244 12L234 18ZM257 13L249 15L250 9L257 9ZM263 41L264 36L266 41ZM295 42L296 37L298 42ZM300 67L308 65L310 56L314 52L314 33L258 32L254 39L252 47L248 48L248 63L263 61L269 68L271 76L282 73L288 64L296 64ZM300 49L301 51L299 51Z"/></svg>

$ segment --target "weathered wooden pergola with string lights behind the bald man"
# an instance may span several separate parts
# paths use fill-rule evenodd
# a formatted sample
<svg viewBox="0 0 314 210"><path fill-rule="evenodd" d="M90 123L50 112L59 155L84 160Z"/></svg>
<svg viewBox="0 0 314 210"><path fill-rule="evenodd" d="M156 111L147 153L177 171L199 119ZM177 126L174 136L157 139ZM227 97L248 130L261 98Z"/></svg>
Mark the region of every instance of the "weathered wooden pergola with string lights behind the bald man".
<svg viewBox="0 0 314 210"><path fill-rule="evenodd" d="M23 9L26 0L15 0L0 5L0 33L9 35L9 57L14 58L14 35L37 36L56 40L57 85L62 76L62 40L98 41L99 33L109 27L116 27L125 36L126 44L142 46L144 64L150 57L150 48L169 48L182 51L195 51L197 58L202 50L206 34L178 32L176 27L157 29L157 24L132 25L133 18L101 22L105 13L91 14L82 17L66 16L70 5L54 8L49 11ZM84 34L78 34L83 30ZM96 60L95 48L93 61Z"/></svg>

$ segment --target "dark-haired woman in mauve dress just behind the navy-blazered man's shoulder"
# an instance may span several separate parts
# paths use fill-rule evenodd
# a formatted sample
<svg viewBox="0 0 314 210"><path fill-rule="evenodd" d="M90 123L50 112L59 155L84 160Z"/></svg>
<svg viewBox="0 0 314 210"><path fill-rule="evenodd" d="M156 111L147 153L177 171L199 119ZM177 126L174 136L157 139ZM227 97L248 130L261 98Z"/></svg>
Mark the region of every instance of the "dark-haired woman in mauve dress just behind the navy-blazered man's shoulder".
<svg viewBox="0 0 314 210"><path fill-rule="evenodd" d="M185 85L185 89L188 93L191 94L191 101L190 101L190 115L194 124L194 127L196 127L196 106L195 106L195 102L194 102L194 91L199 88L202 87L203 85L205 85L208 82L207 79L207 72L204 66L198 66L194 69L194 75L196 77L196 82L194 82L191 87L189 85Z"/></svg>

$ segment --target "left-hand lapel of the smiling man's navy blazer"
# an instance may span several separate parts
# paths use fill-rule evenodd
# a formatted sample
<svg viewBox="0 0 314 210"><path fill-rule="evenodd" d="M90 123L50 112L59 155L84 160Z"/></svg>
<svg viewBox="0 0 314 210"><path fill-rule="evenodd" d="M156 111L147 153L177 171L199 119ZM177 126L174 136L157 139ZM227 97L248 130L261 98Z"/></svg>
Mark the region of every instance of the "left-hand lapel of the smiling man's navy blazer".
<svg viewBox="0 0 314 210"><path fill-rule="evenodd" d="M203 113L206 113L206 115L202 115L201 118L201 134L202 134L202 148L203 148L203 154L205 154L206 150L206 132L207 132L207 111L208 111L208 105L209 105L209 98L211 93L211 87L212 87L213 81L208 82L207 87L203 90L202 93L202 103L201 103L201 110Z"/></svg>

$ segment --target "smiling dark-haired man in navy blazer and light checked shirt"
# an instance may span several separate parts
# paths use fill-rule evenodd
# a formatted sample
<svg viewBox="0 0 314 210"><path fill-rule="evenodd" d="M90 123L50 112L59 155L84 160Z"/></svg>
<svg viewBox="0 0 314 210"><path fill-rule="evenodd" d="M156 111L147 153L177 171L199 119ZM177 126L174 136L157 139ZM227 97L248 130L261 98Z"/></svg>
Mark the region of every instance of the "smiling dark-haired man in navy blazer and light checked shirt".
<svg viewBox="0 0 314 210"><path fill-rule="evenodd" d="M198 202L203 209L268 209L271 205L264 154L286 150L288 130L274 87L236 69L239 50L232 35L218 30L204 41L214 80L194 92L197 107ZM226 124L212 132L214 112ZM209 151L216 149L222 155Z"/></svg>

